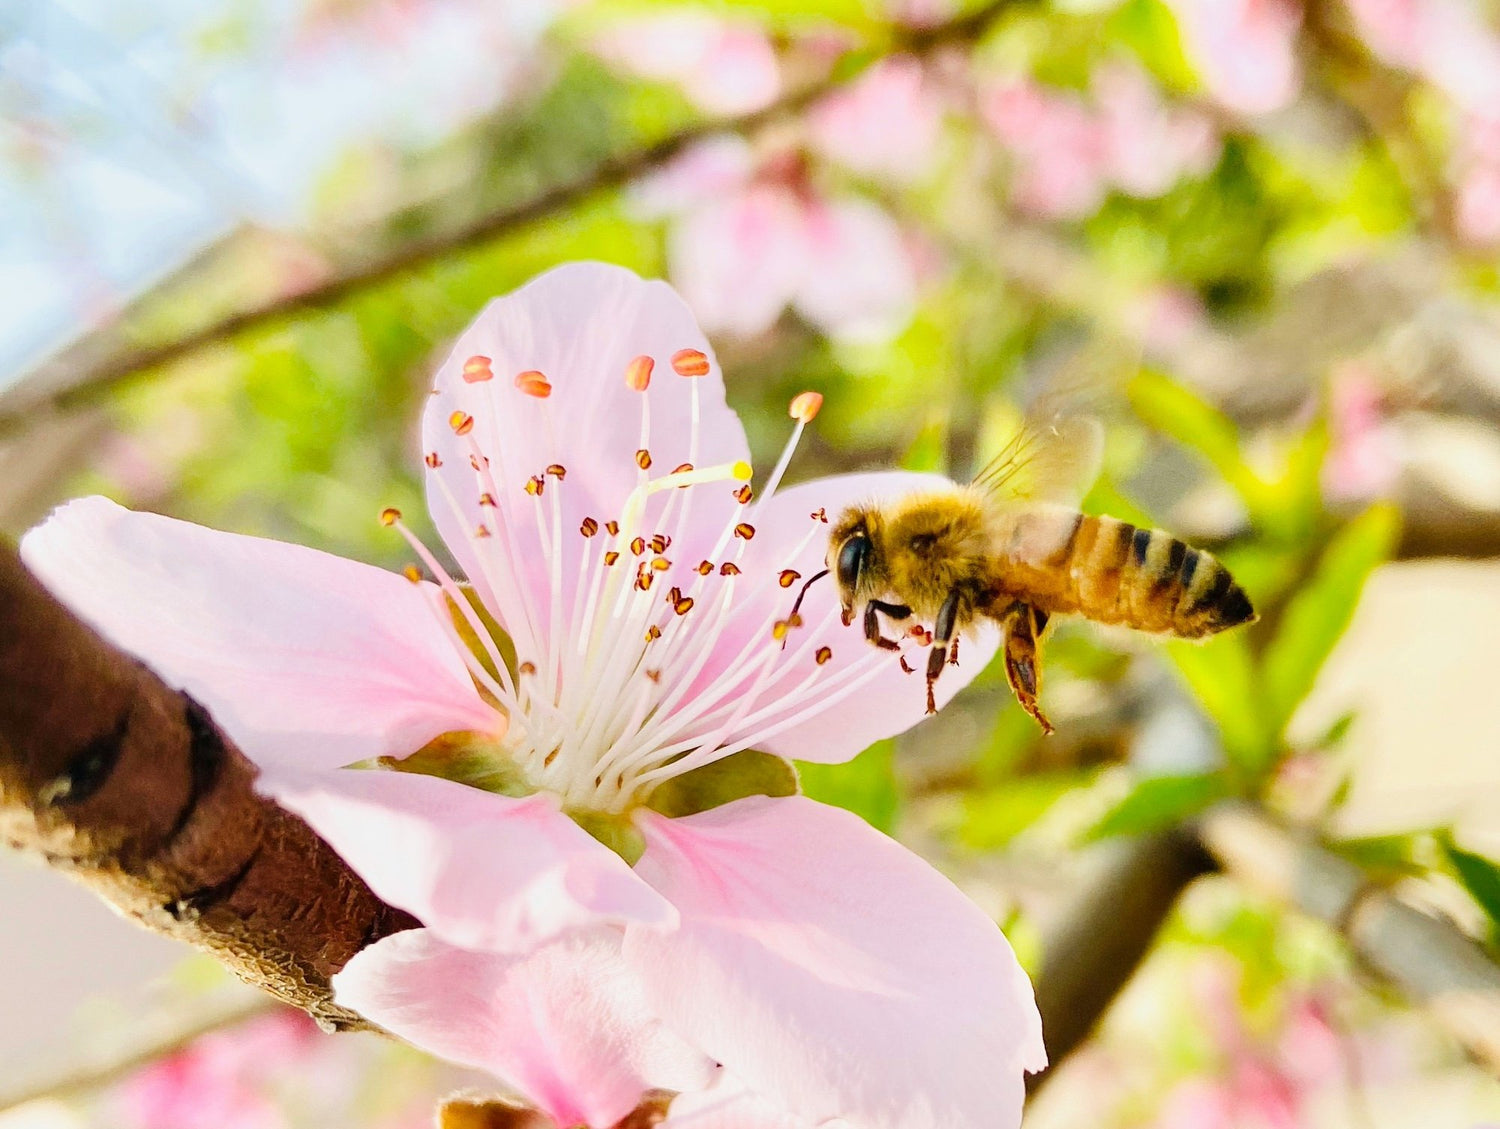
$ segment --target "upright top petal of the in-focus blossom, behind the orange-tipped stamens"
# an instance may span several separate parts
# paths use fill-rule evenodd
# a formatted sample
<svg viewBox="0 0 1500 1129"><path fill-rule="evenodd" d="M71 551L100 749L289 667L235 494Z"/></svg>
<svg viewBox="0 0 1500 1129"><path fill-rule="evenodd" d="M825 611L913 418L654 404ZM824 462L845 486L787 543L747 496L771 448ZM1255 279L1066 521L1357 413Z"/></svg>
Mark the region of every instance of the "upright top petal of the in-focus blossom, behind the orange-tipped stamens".
<svg viewBox="0 0 1500 1129"><path fill-rule="evenodd" d="M705 354L708 373L676 375L672 357L681 349ZM636 357L654 360L645 393L626 385ZM494 375L465 379L466 364L470 376L483 375L471 358L488 360ZM518 388L514 379L524 372L540 372L550 396ZM621 517L636 486L644 402L654 474L680 463L750 457L744 429L724 405L712 349L684 301L664 282L645 282L603 262L556 267L496 298L438 372L423 418L429 465L432 456L440 463L428 472L432 517L524 660L540 663L546 646L566 634L584 576L584 519L603 525ZM464 429L471 430L456 433ZM477 472L471 457L488 465L482 462ZM566 478L548 474L549 466ZM540 495L526 492L532 477L543 481ZM652 496L644 511L646 529L664 505L664 493ZM712 537L734 511L734 499L726 490L710 492L694 498L693 511L698 520L688 534L706 529L704 537ZM477 535L480 529L486 535Z"/></svg>

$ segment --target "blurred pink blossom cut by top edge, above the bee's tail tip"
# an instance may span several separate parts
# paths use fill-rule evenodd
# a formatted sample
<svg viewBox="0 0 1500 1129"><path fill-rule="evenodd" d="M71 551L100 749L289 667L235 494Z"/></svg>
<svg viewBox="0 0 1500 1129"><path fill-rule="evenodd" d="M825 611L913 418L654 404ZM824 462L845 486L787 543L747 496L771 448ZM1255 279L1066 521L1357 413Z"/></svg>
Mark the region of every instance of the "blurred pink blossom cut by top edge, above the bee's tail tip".
<svg viewBox="0 0 1500 1129"><path fill-rule="evenodd" d="M1167 0L1209 94L1238 114L1269 114L1296 97L1302 75L1292 0Z"/></svg>

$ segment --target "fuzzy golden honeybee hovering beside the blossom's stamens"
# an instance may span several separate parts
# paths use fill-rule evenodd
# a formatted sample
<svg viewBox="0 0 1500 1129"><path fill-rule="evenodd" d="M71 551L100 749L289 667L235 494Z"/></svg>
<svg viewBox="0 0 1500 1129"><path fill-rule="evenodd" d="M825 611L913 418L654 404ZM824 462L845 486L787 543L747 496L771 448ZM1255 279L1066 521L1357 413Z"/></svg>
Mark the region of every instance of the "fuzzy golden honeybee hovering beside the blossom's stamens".
<svg viewBox="0 0 1500 1129"><path fill-rule="evenodd" d="M882 616L932 624L928 714L944 666L958 661L958 637L981 619L999 625L1005 678L1044 733L1053 726L1036 697L1053 616L1185 639L1256 619L1245 589L1209 553L1077 510L1101 450L1096 420L1054 417L1023 427L966 486L854 505L832 525L826 571L844 625L862 615L870 643L894 651Z"/></svg>

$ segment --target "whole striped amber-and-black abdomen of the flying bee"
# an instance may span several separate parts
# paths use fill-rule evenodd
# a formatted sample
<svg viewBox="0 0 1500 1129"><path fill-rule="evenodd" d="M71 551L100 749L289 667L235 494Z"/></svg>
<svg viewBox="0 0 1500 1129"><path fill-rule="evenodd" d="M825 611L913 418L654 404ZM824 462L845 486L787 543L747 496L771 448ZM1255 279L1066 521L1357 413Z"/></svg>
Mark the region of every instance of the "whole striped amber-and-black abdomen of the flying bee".
<svg viewBox="0 0 1500 1129"><path fill-rule="evenodd" d="M1032 603L1042 610L1190 639L1256 618L1224 565L1161 529L1036 510L1018 516L1014 534L1017 547L1050 534L1046 559L1022 553L1029 559L1012 558L1017 567L1008 570L1023 583L1032 580L1024 586L1040 589Z"/></svg>

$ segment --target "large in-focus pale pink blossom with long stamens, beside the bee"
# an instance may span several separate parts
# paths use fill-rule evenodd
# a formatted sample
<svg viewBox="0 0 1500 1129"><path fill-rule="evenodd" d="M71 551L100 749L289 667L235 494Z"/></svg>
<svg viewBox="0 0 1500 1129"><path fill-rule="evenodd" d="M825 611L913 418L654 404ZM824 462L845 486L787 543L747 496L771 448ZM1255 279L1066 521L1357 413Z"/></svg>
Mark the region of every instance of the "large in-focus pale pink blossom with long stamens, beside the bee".
<svg viewBox="0 0 1500 1129"><path fill-rule="evenodd" d="M738 751L838 762L922 715L831 586L784 621L825 514L933 480L778 490L806 420L752 496L684 303L570 264L490 303L428 400L428 501L468 589L394 511L435 582L100 498L22 555L420 919L334 978L381 1027L566 1126L724 1077L810 1123L1016 1126L1046 1060L1030 987L946 879L796 795L651 807ZM939 699L994 645L978 633ZM423 748L466 783L384 771Z"/></svg>

